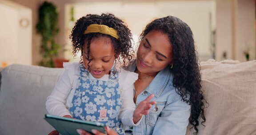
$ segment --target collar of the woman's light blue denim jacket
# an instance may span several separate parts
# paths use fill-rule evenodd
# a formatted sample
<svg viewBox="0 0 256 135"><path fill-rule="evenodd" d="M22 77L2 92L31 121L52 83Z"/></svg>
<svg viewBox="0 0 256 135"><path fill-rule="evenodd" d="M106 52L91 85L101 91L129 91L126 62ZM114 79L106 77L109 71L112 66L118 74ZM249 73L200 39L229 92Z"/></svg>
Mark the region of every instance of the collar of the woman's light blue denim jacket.
<svg viewBox="0 0 256 135"><path fill-rule="evenodd" d="M164 88L167 86L168 82L172 81L172 74L169 68L170 67L167 66L163 70L159 71L145 91L154 94L158 98L164 91ZM127 69L134 72L136 69L136 60L132 61Z"/></svg>

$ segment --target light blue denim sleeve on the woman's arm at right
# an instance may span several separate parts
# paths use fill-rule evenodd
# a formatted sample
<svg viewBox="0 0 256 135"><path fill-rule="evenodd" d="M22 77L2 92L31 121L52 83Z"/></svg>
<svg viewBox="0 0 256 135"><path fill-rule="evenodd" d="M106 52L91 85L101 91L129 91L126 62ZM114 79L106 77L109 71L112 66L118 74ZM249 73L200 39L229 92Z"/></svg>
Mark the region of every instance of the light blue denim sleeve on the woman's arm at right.
<svg viewBox="0 0 256 135"><path fill-rule="evenodd" d="M152 135L185 135L190 111L191 106L181 98L168 101L156 121Z"/></svg>

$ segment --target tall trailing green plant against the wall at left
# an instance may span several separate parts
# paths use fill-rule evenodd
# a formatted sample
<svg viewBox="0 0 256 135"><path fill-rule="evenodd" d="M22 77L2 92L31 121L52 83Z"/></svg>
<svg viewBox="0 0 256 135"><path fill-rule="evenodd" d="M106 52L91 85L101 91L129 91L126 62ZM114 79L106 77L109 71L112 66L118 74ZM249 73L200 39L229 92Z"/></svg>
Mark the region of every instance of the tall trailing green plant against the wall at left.
<svg viewBox="0 0 256 135"><path fill-rule="evenodd" d="M39 65L44 67L55 67L54 58L57 56L60 45L54 41L54 37L58 34L58 13L56 6L45 1L38 9L38 23L36 25L37 32L42 36L40 53L43 60Z"/></svg>

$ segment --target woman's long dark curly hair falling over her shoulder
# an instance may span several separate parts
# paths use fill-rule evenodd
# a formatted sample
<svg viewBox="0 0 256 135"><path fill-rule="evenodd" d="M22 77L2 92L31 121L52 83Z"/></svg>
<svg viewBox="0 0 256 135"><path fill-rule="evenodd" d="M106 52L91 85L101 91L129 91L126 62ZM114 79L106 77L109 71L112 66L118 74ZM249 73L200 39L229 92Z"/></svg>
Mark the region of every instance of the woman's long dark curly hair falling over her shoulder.
<svg viewBox="0 0 256 135"><path fill-rule="evenodd" d="M173 54L173 86L182 100L191 105L189 123L198 133L199 117L206 121L204 116L204 96L201 91L201 75L195 50L194 39L188 24L177 17L167 16L153 20L146 26L140 35L142 40L149 32L157 30L168 35L172 44ZM188 96L189 95L189 96ZM189 99L188 99L189 97ZM206 102L207 103L207 102ZM201 123L201 124L202 124Z"/></svg>

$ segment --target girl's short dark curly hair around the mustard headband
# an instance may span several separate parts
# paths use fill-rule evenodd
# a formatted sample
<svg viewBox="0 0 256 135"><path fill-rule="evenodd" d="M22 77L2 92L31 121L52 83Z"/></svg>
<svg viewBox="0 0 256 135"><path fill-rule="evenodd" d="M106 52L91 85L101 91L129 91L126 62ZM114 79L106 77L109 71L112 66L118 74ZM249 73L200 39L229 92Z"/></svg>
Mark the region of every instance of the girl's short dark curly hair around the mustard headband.
<svg viewBox="0 0 256 135"><path fill-rule="evenodd" d="M114 28L117 31L117 35L119 39L116 39L110 35L101 34L101 33L88 33L84 34L86 28L91 24L100 24L107 25L110 28ZM76 21L74 28L72 29L71 35L69 38L72 40L72 53L74 56L81 51L83 55L83 47L85 44L85 40L87 40L87 60L90 63L89 55L90 55L90 44L93 38L98 38L100 36L107 36L112 40L112 44L114 45L115 58L116 61L123 60L123 65L126 62L132 60L134 55L134 51L132 50L132 33L127 28L122 20L114 16L113 14L88 14L86 16L81 17ZM82 63L82 55L80 57L80 63ZM121 56L121 58L120 58ZM115 61L115 62L116 62ZM121 62L120 62L121 63Z"/></svg>

